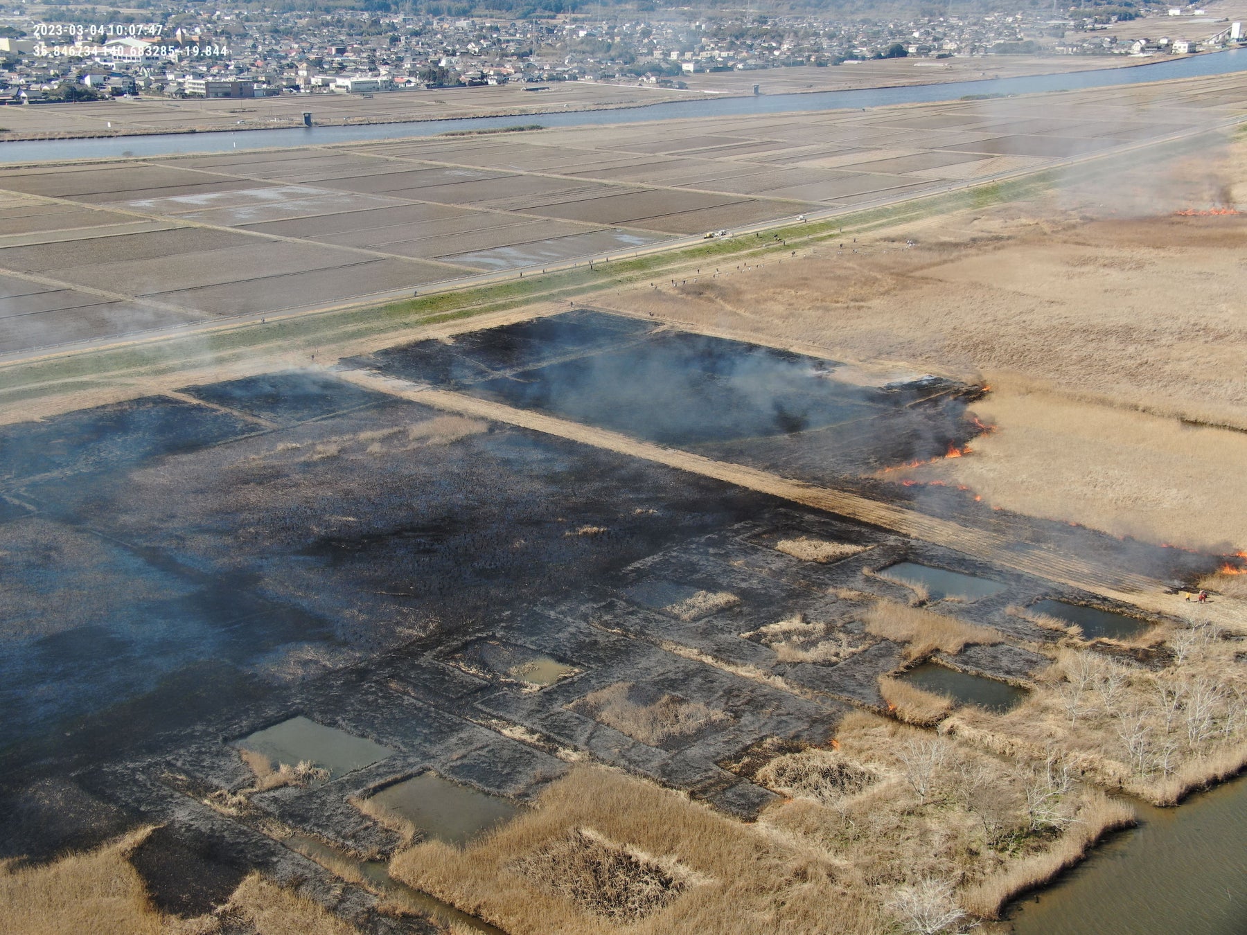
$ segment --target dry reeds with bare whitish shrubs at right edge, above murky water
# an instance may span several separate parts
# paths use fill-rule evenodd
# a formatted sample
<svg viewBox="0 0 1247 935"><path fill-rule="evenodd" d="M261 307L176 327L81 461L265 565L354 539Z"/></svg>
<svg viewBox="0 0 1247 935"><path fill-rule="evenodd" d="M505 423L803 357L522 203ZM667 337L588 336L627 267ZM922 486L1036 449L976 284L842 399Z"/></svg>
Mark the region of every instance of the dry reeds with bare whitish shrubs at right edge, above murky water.
<svg viewBox="0 0 1247 935"><path fill-rule="evenodd" d="M1059 650L1006 713L963 708L944 729L1023 760L1057 757L1089 780L1160 805L1247 764L1247 673L1211 626L1177 632L1162 669Z"/></svg>

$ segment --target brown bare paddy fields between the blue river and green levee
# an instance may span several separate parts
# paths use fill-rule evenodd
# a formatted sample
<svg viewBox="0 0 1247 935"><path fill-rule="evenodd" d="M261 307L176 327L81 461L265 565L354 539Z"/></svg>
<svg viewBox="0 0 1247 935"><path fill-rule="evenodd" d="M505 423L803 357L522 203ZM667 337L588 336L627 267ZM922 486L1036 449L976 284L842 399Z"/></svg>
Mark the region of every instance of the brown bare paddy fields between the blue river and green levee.
<svg viewBox="0 0 1247 935"><path fill-rule="evenodd" d="M1243 81L2 170L0 352L904 201L1223 121Z"/></svg>

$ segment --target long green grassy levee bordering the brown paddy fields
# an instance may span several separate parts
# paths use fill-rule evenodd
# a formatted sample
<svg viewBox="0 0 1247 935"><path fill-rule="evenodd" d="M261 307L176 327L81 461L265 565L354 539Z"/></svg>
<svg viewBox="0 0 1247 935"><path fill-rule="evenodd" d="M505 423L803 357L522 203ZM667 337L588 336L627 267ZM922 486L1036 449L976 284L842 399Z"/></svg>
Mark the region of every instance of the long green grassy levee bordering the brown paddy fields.
<svg viewBox="0 0 1247 935"><path fill-rule="evenodd" d="M1126 161L1151 161L1190 151L1207 133L1157 143L1127 153ZM264 324L228 323L192 333L118 337L99 348L77 348L0 364L0 406L30 399L90 390L113 380L141 380L203 365L234 363L249 357L317 352L327 345L404 337L408 330L535 302L582 298L594 292L637 284L667 272L687 271L726 259L766 259L837 238L879 231L936 214L981 209L1031 198L1077 178L1086 181L1122 167L1120 160L1099 160L909 201L853 211L831 218L768 229L764 237L741 234L691 247L576 266L506 282L450 289L400 302L352 305L292 314ZM778 238L778 239L774 239ZM279 314L279 313L274 313ZM415 337L415 335L413 335ZM377 342L378 345L383 340ZM332 355L330 355L332 357Z"/></svg>

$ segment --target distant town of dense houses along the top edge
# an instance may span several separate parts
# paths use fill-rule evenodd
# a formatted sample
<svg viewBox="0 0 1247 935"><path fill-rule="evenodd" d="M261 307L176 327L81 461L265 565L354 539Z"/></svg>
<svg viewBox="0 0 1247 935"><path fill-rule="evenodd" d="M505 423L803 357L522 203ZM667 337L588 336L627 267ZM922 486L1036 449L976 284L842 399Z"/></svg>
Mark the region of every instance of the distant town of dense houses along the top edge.
<svg viewBox="0 0 1247 935"><path fill-rule="evenodd" d="M56 9L70 27L75 7ZM161 7L153 0L120 22L82 22L77 32L57 32L24 6L6 10L0 0L0 101L37 101L65 82L92 94L203 97L380 94L511 81L678 86L695 74L879 57L1190 55L1247 41L1241 24L1201 19L1195 7L1151 14L1165 26L1156 30L1165 34L1157 39L1119 39L1119 17L1143 7L1095 9L1066 15L1030 7L984 15L945 10L852 22L739 12L642 19L630 11L494 20L360 10L208 11ZM146 20L138 22L140 16ZM1175 31L1181 35L1166 37Z"/></svg>

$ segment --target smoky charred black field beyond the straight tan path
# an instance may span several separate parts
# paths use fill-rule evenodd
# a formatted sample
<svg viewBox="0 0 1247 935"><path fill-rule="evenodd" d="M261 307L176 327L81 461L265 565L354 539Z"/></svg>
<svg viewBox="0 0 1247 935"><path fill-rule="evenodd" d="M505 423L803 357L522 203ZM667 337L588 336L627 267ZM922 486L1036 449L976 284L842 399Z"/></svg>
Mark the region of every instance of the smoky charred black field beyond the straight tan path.
<svg viewBox="0 0 1247 935"><path fill-rule="evenodd" d="M579 310L380 352L358 364L812 481L960 446L981 388L842 381L822 358Z"/></svg>

